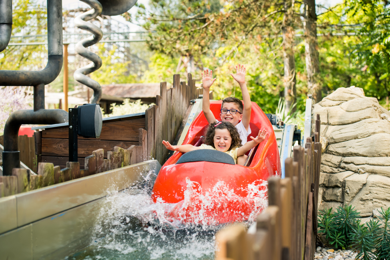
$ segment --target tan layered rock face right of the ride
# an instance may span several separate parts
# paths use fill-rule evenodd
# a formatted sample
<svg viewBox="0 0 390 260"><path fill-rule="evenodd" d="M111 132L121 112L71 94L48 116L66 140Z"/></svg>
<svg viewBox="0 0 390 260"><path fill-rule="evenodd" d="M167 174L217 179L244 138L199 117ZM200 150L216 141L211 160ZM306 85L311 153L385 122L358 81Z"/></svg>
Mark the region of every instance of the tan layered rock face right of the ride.
<svg viewBox="0 0 390 260"><path fill-rule="evenodd" d="M314 105L321 117L319 209L390 207L390 112L363 89L340 87Z"/></svg>

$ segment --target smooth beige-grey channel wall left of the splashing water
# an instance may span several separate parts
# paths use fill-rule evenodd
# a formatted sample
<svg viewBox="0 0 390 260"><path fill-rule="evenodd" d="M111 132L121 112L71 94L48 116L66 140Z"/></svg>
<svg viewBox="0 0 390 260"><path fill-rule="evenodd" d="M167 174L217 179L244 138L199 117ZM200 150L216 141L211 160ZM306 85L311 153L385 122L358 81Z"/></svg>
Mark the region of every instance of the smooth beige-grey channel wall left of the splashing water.
<svg viewBox="0 0 390 260"><path fill-rule="evenodd" d="M160 169L149 160L0 198L0 260L62 259L85 248L102 198L142 184Z"/></svg>

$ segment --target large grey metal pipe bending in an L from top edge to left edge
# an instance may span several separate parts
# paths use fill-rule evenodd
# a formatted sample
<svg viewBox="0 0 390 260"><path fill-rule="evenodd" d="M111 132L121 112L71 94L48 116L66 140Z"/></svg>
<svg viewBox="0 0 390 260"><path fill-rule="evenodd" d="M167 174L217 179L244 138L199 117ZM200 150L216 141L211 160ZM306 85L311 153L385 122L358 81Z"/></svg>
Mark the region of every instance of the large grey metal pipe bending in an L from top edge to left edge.
<svg viewBox="0 0 390 260"><path fill-rule="evenodd" d="M3 3L4 0L0 2ZM9 0L5 0L9 1ZM35 86L49 84L62 68L62 0L47 1L48 63L41 71L0 70L0 86ZM1 6L0 6L1 7ZM0 12L2 12L0 10ZM12 8L11 23L12 23ZM0 15L0 19L1 19ZM8 44L8 43L7 43Z"/></svg>

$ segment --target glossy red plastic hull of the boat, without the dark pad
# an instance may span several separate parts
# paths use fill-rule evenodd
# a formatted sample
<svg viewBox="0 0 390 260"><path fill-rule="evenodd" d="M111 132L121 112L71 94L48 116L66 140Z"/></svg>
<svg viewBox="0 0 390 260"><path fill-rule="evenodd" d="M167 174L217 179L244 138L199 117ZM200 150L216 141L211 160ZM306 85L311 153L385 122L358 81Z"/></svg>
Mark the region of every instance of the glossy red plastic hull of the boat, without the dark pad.
<svg viewBox="0 0 390 260"><path fill-rule="evenodd" d="M218 115L218 117L216 117L217 119L220 119L219 110L221 103L222 101L211 102L210 105L214 115ZM200 112L191 124L183 144L195 144L200 136L204 135L206 127L207 120L203 112ZM280 157L273 127L264 112L262 112L260 107L254 102L252 102L250 127L252 136L257 135L259 129L264 128L269 134L267 139L259 144L249 167L215 162L187 162L175 164L183 154L176 152L161 168L153 187L152 199L155 202L179 203L184 199L184 191L187 189L188 180L196 182L196 185L200 187L194 188L203 195L206 194L206 192L212 191L217 182L223 181L229 189L234 190L235 194L246 197L248 196L248 189L246 188L249 184L259 181L262 182L263 180L267 180L270 176L280 176ZM248 140L251 139L248 137ZM233 204L231 204L230 207ZM238 206L236 205L234 207ZM244 207L240 210L240 212L245 213L244 218L248 217L247 215L250 214L248 213L250 211L250 205L241 205L240 207ZM197 207L193 207L192 210L196 210L196 208ZM214 207L214 210L214 214L218 219L218 214L227 209ZM173 213L173 215L175 215L175 213ZM216 221L217 223L235 221L235 219L226 219L222 217L222 215L219 217L220 221ZM188 221L190 221L190 219L188 219Z"/></svg>

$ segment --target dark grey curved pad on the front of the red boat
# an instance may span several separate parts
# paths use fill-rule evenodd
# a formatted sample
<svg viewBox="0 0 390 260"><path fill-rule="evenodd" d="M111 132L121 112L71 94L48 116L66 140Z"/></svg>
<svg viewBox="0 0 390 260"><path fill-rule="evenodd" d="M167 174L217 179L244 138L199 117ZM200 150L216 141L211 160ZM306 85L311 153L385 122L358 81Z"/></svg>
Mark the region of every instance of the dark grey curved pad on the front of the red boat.
<svg viewBox="0 0 390 260"><path fill-rule="evenodd" d="M184 153L176 164L184 162L221 162L223 164L235 164L233 157L217 150L200 149Z"/></svg>

